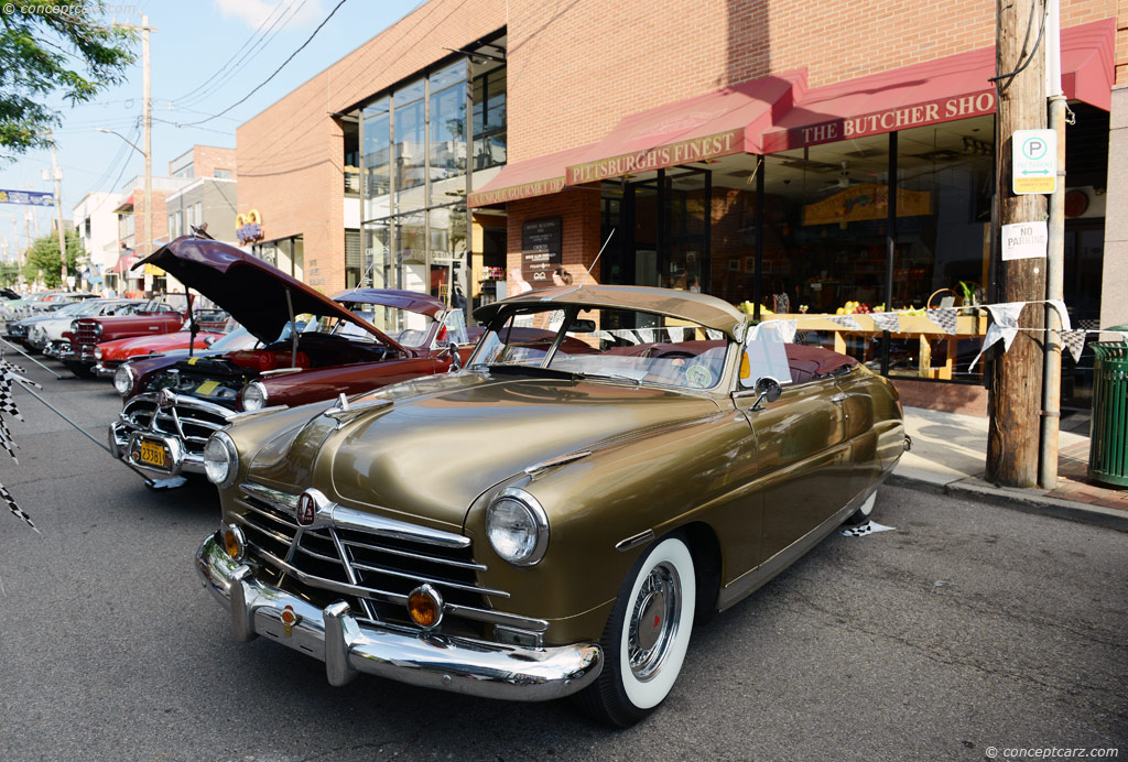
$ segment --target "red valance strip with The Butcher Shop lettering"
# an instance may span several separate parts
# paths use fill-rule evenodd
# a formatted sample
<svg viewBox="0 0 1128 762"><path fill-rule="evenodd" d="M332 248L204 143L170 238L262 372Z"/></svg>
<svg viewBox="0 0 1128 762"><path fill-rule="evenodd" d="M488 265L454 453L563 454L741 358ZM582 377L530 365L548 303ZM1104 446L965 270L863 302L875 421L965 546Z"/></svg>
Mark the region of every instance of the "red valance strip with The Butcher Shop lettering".
<svg viewBox="0 0 1128 762"><path fill-rule="evenodd" d="M775 153L804 145L835 143L852 138L923 127L928 124L968 119L995 113L995 90L941 98L913 106L848 116L764 134L764 152Z"/></svg>

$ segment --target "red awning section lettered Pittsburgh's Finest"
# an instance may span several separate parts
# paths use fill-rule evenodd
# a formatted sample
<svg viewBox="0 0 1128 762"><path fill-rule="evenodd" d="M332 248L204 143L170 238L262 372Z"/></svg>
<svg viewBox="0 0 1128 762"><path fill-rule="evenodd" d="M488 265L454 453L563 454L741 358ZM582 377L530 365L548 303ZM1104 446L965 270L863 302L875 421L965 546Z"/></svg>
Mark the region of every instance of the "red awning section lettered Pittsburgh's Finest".
<svg viewBox="0 0 1128 762"><path fill-rule="evenodd" d="M792 71L624 117L582 163L569 166L565 183L760 153L760 135L805 89L807 72Z"/></svg>

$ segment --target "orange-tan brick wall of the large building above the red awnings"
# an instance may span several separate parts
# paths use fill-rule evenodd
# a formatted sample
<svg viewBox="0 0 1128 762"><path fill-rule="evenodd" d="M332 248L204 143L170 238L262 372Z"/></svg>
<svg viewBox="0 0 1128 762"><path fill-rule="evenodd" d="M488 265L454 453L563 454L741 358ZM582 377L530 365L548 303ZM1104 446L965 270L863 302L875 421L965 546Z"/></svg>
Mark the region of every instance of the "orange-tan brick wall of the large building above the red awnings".
<svg viewBox="0 0 1128 762"><path fill-rule="evenodd" d="M1118 0L1061 5L1066 27L1118 17ZM259 210L267 240L305 236L312 285L344 287L343 136L332 114L442 60L441 46L502 28L509 160L520 161L730 83L805 68L818 87L990 45L994 27L994 3L982 0L431 0L238 129L239 207ZM1118 27L1118 80L1128 81L1128 10ZM510 258L520 250L521 221L549 214L565 218L566 262L593 257L599 209L589 196L511 203ZM576 240L567 238L564 212L573 205Z"/></svg>

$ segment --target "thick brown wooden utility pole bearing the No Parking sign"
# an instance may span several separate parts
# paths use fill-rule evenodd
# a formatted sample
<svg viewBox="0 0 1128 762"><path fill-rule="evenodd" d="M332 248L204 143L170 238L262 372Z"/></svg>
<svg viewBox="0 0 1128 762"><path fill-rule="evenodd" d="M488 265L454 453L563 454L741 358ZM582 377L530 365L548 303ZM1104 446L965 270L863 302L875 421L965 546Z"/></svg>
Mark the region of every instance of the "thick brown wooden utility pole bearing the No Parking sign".
<svg viewBox="0 0 1128 762"><path fill-rule="evenodd" d="M1045 0L996 0L996 167L994 239L1002 248L1002 225L1041 222L1046 198L1015 195L1012 150L1015 130L1046 127L1042 41ZM1046 260L998 263L1001 302L1041 301L1046 294ZM1032 313L1025 309L1025 313ZM1019 325L1022 325L1020 319ZM1010 351L995 360L989 380L990 427L987 438L987 480L1008 487L1038 481L1039 411L1042 392L1041 336L1020 330Z"/></svg>

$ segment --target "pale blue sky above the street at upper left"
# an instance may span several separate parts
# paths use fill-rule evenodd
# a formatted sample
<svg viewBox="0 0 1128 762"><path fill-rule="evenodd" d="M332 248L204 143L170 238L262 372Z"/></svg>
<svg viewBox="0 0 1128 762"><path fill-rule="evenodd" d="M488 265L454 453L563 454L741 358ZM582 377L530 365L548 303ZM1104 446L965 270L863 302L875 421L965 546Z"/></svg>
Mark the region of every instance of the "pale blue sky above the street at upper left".
<svg viewBox="0 0 1128 762"><path fill-rule="evenodd" d="M177 126L224 112L266 80L329 16L341 0L106 0L105 17L141 24L149 17L152 91L152 172L168 175L168 162L193 144L235 148L235 130L406 16L426 0L344 0L312 41L245 103L197 126ZM130 5L132 3L132 5ZM71 107L61 100L56 130L63 170L63 218L87 194L120 193L144 172L144 158L114 130L142 147L141 42L125 81L92 101ZM143 148L143 147L142 147ZM51 151L32 151L15 162L0 161L0 189L53 192L43 179ZM27 243L24 210L38 216L39 234L51 231L54 207L0 204L0 252ZM12 222L15 221L15 225ZM35 222L32 222L35 238ZM12 246L12 241L16 246Z"/></svg>

